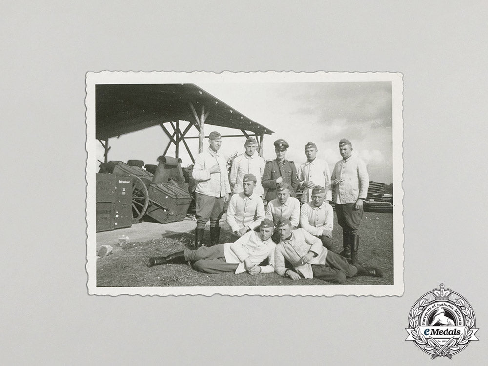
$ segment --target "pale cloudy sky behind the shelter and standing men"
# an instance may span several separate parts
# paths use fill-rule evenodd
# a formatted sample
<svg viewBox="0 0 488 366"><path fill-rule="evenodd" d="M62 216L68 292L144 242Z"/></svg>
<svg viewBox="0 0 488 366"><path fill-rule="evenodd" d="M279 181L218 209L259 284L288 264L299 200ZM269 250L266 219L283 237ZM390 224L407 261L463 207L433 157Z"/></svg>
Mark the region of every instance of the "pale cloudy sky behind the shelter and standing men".
<svg viewBox="0 0 488 366"><path fill-rule="evenodd" d="M290 144L286 158L298 165L306 159L306 142L313 141L319 149L318 157L325 159L332 171L341 159L338 142L344 137L352 142L353 152L366 161L371 180L392 182L390 82L199 83L198 86L275 131L273 135L264 135L266 159L275 157L273 142L283 138ZM186 124L181 122L183 128ZM236 134L232 129L205 127L207 135L212 130ZM196 135L193 129L192 136ZM224 138L221 151L226 156L244 151L244 141L243 137ZM147 164L156 163L167 142L159 126L112 138L109 160L141 159ZM198 151L197 139L187 142L192 152ZM180 153L183 166L189 165L191 160L183 145ZM174 146L168 155L174 156ZM97 147L97 159L103 161L101 145Z"/></svg>

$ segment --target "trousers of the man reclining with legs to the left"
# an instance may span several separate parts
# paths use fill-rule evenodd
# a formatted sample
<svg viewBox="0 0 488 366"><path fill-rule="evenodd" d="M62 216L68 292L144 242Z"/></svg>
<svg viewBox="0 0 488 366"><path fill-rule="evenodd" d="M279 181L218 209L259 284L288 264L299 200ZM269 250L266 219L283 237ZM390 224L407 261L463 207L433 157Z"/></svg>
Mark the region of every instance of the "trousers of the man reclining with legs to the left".
<svg viewBox="0 0 488 366"><path fill-rule="evenodd" d="M187 261L195 262L193 264L195 270L205 273L234 272L239 265L225 261L223 244L211 247L201 246L197 250L185 250L184 256Z"/></svg>

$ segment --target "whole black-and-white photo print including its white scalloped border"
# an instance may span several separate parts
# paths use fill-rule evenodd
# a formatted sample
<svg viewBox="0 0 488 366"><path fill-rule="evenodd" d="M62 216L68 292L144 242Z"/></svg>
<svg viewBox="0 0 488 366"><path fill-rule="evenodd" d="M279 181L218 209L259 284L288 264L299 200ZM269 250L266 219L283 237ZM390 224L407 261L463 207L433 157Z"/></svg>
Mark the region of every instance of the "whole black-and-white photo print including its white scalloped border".
<svg viewBox="0 0 488 366"><path fill-rule="evenodd" d="M402 75L89 73L93 294L401 295Z"/></svg>

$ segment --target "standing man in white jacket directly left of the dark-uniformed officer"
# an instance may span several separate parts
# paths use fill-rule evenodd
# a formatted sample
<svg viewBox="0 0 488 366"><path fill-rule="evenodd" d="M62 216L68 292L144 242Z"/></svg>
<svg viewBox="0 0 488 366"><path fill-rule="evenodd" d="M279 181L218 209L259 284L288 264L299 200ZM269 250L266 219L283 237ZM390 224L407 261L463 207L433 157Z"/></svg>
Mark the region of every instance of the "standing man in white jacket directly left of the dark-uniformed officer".
<svg viewBox="0 0 488 366"><path fill-rule="evenodd" d="M254 193L258 196L263 196L264 189L261 185L261 177L264 173L264 159L259 156L256 149L258 142L254 137L247 138L244 148L244 154L237 156L232 162L232 169L230 170L230 186L233 193L241 193L243 189L243 178L246 174L253 174L256 177L256 186Z"/></svg>

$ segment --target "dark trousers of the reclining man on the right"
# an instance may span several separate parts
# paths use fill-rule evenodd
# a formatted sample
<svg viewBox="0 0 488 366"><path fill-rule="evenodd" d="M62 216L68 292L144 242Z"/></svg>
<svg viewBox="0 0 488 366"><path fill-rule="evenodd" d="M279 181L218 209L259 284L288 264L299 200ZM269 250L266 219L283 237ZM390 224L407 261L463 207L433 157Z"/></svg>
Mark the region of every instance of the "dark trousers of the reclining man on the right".
<svg viewBox="0 0 488 366"><path fill-rule="evenodd" d="M312 272L314 278L342 284L348 277L356 275L358 269L343 256L328 251L325 265L312 264Z"/></svg>

